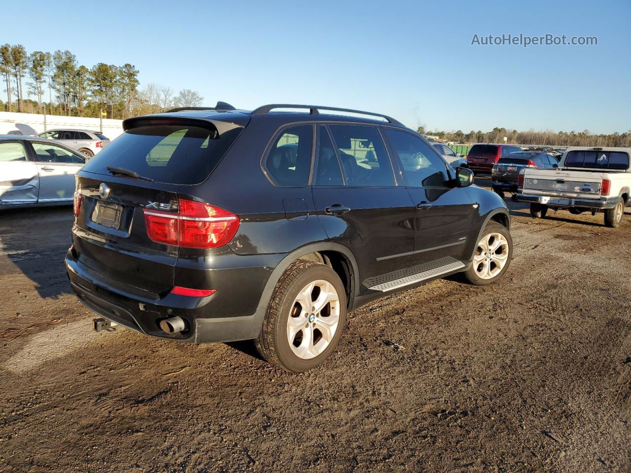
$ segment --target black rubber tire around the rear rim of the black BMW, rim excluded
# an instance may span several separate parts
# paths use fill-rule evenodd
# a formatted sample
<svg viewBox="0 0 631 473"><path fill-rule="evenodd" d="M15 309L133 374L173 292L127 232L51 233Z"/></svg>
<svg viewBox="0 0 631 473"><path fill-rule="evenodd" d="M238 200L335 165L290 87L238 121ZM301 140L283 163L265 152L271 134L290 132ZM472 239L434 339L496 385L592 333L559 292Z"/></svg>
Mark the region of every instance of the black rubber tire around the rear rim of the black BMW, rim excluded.
<svg viewBox="0 0 631 473"><path fill-rule="evenodd" d="M287 336L287 324L299 291L312 281L322 279L331 283L338 294L339 322L331 342L314 358L300 358L293 352ZM306 320L305 320L306 321ZM346 291L333 269L308 260L293 262L276 284L269 300L261 333L254 341L261 357L285 370L300 373L320 365L333 353L346 322Z"/></svg>

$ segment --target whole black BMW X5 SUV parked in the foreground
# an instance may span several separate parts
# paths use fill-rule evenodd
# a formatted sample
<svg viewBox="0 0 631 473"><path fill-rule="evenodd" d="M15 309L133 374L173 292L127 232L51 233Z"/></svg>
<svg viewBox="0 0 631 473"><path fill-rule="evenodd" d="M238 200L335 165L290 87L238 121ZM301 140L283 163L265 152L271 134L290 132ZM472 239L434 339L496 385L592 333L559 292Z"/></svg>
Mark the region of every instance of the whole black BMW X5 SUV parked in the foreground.
<svg viewBox="0 0 631 473"><path fill-rule="evenodd" d="M220 102L123 127L76 175L66 267L88 308L144 334L252 339L304 371L350 310L509 266L504 201L386 115Z"/></svg>

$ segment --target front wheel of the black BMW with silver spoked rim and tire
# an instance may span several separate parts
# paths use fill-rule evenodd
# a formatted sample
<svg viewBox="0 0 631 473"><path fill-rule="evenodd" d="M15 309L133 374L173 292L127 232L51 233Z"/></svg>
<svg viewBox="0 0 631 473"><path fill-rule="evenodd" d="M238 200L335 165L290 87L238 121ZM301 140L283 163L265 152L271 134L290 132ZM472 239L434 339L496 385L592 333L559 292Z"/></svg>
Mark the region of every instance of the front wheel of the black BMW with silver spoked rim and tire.
<svg viewBox="0 0 631 473"><path fill-rule="evenodd" d="M473 263L464 273L471 284L493 284L506 272L512 259L510 231L499 223L489 223L473 254Z"/></svg>

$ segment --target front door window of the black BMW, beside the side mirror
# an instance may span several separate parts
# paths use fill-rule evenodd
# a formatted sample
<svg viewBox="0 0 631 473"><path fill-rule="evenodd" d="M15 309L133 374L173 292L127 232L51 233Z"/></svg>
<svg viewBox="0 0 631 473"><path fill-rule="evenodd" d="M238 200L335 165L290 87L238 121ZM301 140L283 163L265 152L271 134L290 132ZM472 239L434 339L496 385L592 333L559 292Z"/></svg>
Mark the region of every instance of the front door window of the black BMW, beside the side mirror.
<svg viewBox="0 0 631 473"><path fill-rule="evenodd" d="M445 163L422 139L405 131L386 129L386 137L403 166L403 177L410 187L445 187Z"/></svg>

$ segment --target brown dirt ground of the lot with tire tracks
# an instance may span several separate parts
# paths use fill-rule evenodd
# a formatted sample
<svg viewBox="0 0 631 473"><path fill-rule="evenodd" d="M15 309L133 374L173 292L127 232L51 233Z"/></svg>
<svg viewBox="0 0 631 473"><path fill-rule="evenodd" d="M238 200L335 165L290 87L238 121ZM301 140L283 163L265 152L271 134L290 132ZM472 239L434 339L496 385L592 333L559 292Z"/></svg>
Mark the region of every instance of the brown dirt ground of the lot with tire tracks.
<svg viewBox="0 0 631 473"><path fill-rule="evenodd" d="M0 471L631 472L631 214L507 202L500 283L360 308L302 375L93 332L64 274L71 209L1 213Z"/></svg>

